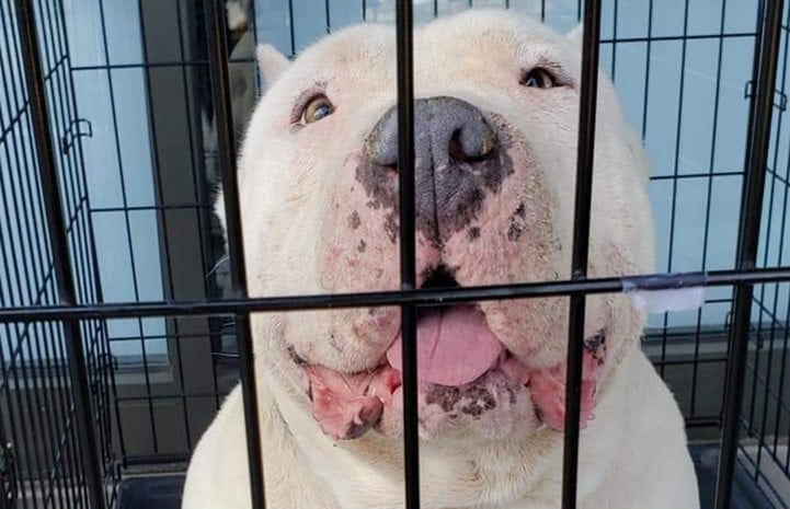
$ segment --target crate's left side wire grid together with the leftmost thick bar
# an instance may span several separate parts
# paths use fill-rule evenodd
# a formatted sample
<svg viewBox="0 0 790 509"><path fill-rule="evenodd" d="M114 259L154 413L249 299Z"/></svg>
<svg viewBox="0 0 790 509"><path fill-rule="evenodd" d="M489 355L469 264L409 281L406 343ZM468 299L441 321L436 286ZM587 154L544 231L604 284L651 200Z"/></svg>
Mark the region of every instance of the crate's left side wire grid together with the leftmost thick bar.
<svg viewBox="0 0 790 509"><path fill-rule="evenodd" d="M77 115L62 5L42 2L36 16L37 25L30 3L0 3L3 308L102 300L82 154L72 143ZM10 69L23 67L24 81L14 79ZM64 143L57 162L53 137ZM11 254L13 244L23 256ZM78 361L31 361L67 357ZM101 320L3 321L0 507L13 507L15 498L30 507L33 493L42 507L104 504L105 493L114 499L110 359ZM24 464L15 461L21 458Z"/></svg>

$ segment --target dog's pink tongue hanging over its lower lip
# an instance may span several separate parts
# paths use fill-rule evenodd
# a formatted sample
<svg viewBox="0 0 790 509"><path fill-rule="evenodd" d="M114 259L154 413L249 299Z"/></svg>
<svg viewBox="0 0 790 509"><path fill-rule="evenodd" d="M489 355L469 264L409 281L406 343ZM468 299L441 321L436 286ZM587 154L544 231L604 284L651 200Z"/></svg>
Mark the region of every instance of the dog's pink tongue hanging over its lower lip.
<svg viewBox="0 0 790 509"><path fill-rule="evenodd" d="M402 337L387 360L402 371ZM468 305L432 310L417 322L417 369L423 382L457 386L481 377L502 352L483 315Z"/></svg>

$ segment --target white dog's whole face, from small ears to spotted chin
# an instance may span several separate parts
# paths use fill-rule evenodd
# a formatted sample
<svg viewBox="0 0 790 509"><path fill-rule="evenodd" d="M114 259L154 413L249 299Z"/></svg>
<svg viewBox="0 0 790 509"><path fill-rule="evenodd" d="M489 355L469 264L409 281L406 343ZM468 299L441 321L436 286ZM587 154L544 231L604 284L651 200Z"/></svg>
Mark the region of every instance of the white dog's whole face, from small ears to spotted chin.
<svg viewBox="0 0 790 509"><path fill-rule="evenodd" d="M259 61L273 84L240 159L250 293L398 289L393 28L346 30L290 65L260 49ZM415 31L420 287L571 277L580 63L577 39L510 12ZM589 275L650 271L646 162L605 78L597 112ZM585 421L641 325L623 296L587 299ZM401 432L398 308L263 314L253 326L277 397L327 435ZM566 298L421 310L417 328L423 438L562 427Z"/></svg>

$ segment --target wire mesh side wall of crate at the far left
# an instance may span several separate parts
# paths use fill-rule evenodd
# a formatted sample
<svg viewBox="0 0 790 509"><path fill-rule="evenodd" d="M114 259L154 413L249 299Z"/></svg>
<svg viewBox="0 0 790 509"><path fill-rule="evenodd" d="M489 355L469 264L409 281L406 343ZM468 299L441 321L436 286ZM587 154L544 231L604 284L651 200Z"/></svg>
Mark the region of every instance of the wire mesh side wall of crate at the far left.
<svg viewBox="0 0 790 509"><path fill-rule="evenodd" d="M0 4L0 305L58 302L58 287L38 177L32 99L18 12ZM35 4L49 104L62 217L72 253L77 303L103 300L96 278L94 238L62 4ZM84 321L79 332L87 354L92 425L110 494L115 470L111 450L112 362L103 321ZM0 328L0 506L77 507L87 504L87 453L79 441L75 395L68 375L62 325L8 323Z"/></svg>

